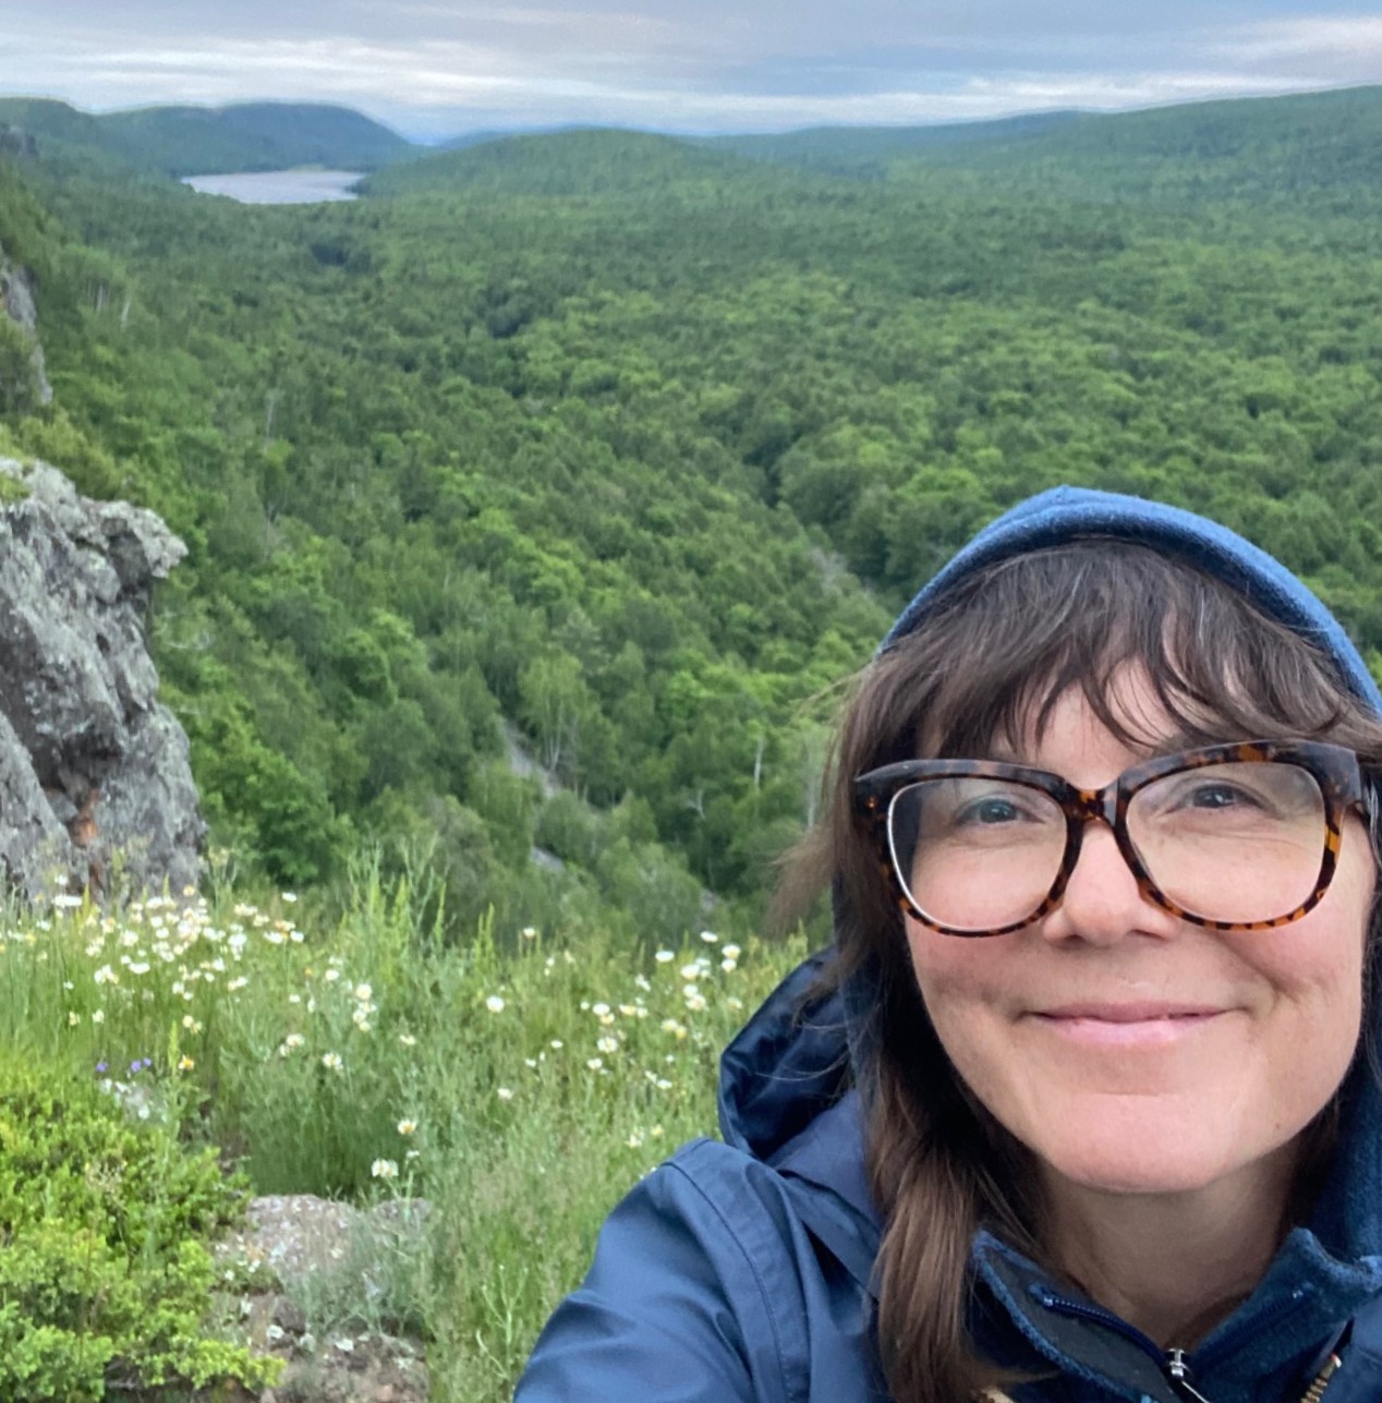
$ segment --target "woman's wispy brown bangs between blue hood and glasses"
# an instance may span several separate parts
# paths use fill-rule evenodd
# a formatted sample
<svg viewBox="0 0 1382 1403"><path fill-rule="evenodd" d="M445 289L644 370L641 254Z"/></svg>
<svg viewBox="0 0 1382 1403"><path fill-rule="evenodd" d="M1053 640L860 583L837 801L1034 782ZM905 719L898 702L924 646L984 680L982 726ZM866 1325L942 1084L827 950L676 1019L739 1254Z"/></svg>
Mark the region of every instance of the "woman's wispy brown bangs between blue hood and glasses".
<svg viewBox="0 0 1382 1403"><path fill-rule="evenodd" d="M1132 748L1165 742L1167 723L1187 746L1378 744L1376 720L1326 654L1222 581L1125 542L1073 542L977 572L878 666L897 669L884 687L894 717L911 717L874 732L891 732L892 753L873 765L1021 753L1072 687ZM1120 706L1114 683L1129 671L1146 679L1152 714Z"/></svg>

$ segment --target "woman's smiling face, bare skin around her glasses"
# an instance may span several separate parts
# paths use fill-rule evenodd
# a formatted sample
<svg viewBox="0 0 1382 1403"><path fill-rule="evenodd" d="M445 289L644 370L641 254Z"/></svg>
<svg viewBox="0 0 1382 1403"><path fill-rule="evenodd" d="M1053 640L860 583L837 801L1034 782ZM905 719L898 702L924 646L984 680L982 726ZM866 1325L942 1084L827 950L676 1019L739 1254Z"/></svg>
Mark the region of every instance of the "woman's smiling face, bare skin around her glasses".
<svg viewBox="0 0 1382 1403"><path fill-rule="evenodd" d="M1118 689L1138 734L1169 734L1145 680ZM1079 692L1016 759L1099 787L1145 758ZM1139 894L1113 833L1085 832L1065 899L1007 936L940 936L908 918L922 998L955 1069L1048 1173L1172 1194L1280 1181L1324 1107L1362 1017L1374 864L1346 819L1324 899L1274 930L1216 933Z"/></svg>

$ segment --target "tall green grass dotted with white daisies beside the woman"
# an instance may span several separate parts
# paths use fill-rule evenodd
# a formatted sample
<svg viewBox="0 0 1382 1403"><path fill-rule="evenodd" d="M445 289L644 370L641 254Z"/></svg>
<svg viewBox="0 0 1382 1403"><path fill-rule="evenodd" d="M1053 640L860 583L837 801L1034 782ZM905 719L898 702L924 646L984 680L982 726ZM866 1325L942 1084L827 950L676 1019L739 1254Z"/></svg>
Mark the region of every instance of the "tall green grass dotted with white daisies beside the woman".
<svg viewBox="0 0 1382 1403"><path fill-rule="evenodd" d="M368 867L330 919L289 892L58 891L0 933L0 1037L175 1118L257 1193L427 1198L422 1250L313 1323L407 1326L434 1397L498 1403L617 1197L714 1132L718 1052L804 947L487 923L457 944L421 920L432 895Z"/></svg>

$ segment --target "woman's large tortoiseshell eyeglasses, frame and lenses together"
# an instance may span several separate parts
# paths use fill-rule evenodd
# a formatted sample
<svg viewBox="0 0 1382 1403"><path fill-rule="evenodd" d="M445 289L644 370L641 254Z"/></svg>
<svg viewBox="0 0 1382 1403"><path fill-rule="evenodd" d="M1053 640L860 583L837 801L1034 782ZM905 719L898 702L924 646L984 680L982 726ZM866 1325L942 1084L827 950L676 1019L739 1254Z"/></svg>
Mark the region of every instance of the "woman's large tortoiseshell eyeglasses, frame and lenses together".
<svg viewBox="0 0 1382 1403"><path fill-rule="evenodd" d="M856 810L904 911L947 936L1002 936L1054 911L1086 825L1107 824L1142 895L1211 930L1267 930L1319 904L1358 756L1243 741L1135 765L1083 790L998 760L902 760L854 780Z"/></svg>

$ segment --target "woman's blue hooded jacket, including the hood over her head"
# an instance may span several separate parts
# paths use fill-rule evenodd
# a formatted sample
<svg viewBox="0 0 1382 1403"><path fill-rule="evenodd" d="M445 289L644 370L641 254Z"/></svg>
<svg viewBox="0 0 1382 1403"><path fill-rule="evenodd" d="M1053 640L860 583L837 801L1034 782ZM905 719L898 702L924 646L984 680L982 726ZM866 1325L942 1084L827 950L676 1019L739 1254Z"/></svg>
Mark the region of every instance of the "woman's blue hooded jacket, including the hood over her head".
<svg viewBox="0 0 1382 1403"><path fill-rule="evenodd" d="M1343 630L1277 561L1187 512L1103 492L1058 488L1000 518L922 591L884 647L975 564L1092 532L1148 540L1229 578L1322 644L1382 710ZM850 1089L870 991L866 972L810 1003L828 958L791 975L725 1052L723 1142L678 1150L610 1215L516 1403L885 1403L873 1334L880 1219ZM1382 1093L1364 1055L1344 1086L1341 1125L1309 1225L1183 1361L1194 1395L1156 1344L979 1233L970 1327L986 1357L1034 1379L1013 1397L1296 1403L1337 1351L1343 1368L1323 1403L1382 1400Z"/></svg>

